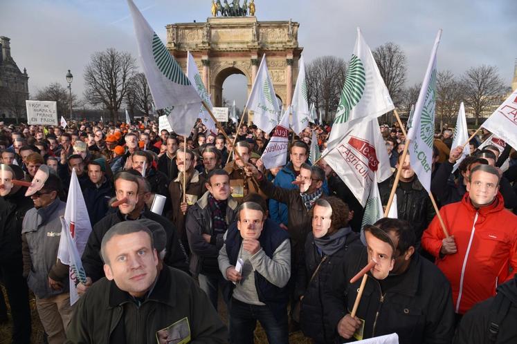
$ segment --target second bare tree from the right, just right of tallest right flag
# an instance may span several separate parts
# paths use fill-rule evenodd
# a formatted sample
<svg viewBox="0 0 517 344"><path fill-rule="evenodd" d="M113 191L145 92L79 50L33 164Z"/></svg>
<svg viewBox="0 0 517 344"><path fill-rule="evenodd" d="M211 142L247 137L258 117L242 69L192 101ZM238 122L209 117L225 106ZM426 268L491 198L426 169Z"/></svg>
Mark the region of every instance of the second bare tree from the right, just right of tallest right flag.
<svg viewBox="0 0 517 344"><path fill-rule="evenodd" d="M452 124L457 117L463 97L462 85L451 70L438 73L436 94L436 114L439 116L439 129L442 131L444 122Z"/></svg>

